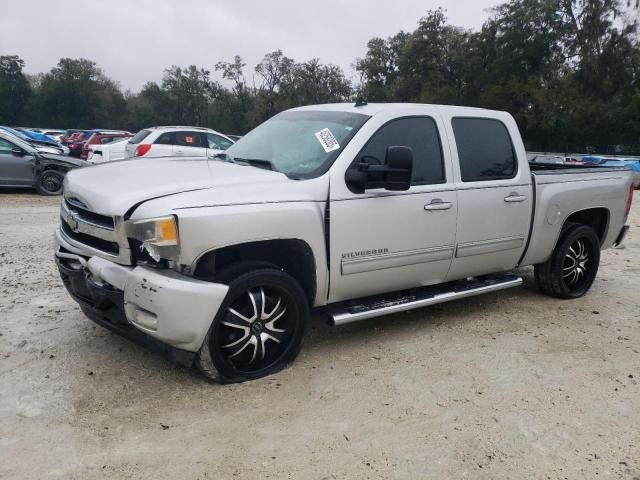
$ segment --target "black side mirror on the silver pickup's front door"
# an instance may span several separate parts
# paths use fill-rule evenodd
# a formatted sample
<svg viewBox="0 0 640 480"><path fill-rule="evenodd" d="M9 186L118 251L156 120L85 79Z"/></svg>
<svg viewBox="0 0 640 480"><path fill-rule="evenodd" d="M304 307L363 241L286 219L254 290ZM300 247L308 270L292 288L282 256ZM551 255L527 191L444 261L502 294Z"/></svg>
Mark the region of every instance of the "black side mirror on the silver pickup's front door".
<svg viewBox="0 0 640 480"><path fill-rule="evenodd" d="M411 147L388 147L384 165L371 165L365 158L349 167L345 175L347 186L354 193L371 188L391 191L409 190L413 173Z"/></svg>

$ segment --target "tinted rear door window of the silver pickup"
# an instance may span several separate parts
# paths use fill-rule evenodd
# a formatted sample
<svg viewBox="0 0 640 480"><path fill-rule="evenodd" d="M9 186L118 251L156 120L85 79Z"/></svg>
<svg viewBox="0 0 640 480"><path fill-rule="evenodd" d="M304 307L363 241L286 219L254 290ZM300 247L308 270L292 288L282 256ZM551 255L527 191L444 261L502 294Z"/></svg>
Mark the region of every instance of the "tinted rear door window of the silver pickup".
<svg viewBox="0 0 640 480"><path fill-rule="evenodd" d="M500 120L453 118L451 125L463 182L507 180L516 176L518 162L513 143Z"/></svg>

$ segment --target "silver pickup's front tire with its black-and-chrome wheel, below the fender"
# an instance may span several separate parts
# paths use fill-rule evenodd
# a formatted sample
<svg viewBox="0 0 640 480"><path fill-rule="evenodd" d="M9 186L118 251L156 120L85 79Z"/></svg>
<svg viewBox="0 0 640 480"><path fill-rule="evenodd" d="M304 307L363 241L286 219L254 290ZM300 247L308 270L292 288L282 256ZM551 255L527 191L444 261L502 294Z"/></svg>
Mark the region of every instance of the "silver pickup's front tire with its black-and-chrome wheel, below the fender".
<svg viewBox="0 0 640 480"><path fill-rule="evenodd" d="M229 291L196 357L200 371L235 383L287 367L302 348L309 318L298 282L263 262L238 264L218 278L227 279Z"/></svg>

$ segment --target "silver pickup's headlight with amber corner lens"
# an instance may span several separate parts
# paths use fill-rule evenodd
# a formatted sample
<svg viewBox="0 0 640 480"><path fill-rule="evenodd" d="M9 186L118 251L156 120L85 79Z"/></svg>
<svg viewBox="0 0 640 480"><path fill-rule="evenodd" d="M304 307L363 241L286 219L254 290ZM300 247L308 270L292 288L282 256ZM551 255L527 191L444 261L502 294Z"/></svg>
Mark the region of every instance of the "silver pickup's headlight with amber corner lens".
<svg viewBox="0 0 640 480"><path fill-rule="evenodd" d="M173 260L178 255L178 220L174 215L136 220L127 225L127 236L135 241L141 251L159 262Z"/></svg>

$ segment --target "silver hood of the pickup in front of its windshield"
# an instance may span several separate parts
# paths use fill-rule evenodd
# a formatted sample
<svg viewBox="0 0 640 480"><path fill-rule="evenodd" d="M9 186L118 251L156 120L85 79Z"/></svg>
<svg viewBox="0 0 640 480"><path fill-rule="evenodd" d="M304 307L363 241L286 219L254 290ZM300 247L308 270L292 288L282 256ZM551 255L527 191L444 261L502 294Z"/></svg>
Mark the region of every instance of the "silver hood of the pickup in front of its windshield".
<svg viewBox="0 0 640 480"><path fill-rule="evenodd" d="M286 175L205 158L149 158L103 163L69 172L65 197L103 215L124 215L147 200L235 185L296 183Z"/></svg>

